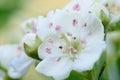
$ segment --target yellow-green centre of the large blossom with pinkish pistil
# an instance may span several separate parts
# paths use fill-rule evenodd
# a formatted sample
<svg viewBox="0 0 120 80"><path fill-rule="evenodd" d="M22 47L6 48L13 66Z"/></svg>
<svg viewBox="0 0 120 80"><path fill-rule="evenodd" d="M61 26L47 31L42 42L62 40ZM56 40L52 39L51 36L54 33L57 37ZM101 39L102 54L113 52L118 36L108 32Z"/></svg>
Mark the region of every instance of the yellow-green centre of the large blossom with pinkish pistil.
<svg viewBox="0 0 120 80"><path fill-rule="evenodd" d="M59 49L62 49L64 54L68 54L72 60L76 59L77 55L84 49L85 40L78 40L77 37L74 37L69 41L64 34L62 34L62 39L65 40L66 45L59 46Z"/></svg>

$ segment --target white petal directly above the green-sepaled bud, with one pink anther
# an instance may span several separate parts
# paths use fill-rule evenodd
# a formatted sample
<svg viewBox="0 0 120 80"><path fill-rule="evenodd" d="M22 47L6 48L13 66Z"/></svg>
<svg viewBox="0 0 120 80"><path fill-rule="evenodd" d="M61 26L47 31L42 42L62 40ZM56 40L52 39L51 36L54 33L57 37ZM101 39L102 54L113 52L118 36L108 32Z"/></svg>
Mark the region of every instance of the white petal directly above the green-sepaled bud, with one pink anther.
<svg viewBox="0 0 120 80"><path fill-rule="evenodd" d="M53 24L50 21L50 14L52 13L49 13L47 18L40 16L37 21L37 34L42 40L44 40L46 35L54 33L54 29L52 28Z"/></svg>

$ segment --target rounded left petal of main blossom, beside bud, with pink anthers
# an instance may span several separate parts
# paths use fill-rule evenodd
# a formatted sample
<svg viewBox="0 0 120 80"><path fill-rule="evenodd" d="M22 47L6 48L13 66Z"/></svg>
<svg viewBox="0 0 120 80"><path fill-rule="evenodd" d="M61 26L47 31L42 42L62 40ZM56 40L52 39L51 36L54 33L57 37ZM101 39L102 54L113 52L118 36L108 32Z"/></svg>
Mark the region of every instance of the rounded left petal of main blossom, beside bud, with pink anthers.
<svg viewBox="0 0 120 80"><path fill-rule="evenodd" d="M61 55L62 49L59 47L64 47L65 45L65 41L60 39L59 36L49 35L44 39L44 43L39 46L38 55L41 59Z"/></svg>

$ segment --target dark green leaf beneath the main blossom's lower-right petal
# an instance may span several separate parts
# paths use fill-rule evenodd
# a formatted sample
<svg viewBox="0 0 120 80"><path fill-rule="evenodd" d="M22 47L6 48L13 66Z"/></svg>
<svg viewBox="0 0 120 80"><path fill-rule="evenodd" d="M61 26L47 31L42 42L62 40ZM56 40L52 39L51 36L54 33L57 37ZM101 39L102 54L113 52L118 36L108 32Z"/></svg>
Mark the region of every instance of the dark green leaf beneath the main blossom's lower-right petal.
<svg viewBox="0 0 120 80"><path fill-rule="evenodd" d="M100 59L96 62L94 68L86 72L72 71L65 80L100 80L106 67L106 52L103 52Z"/></svg>

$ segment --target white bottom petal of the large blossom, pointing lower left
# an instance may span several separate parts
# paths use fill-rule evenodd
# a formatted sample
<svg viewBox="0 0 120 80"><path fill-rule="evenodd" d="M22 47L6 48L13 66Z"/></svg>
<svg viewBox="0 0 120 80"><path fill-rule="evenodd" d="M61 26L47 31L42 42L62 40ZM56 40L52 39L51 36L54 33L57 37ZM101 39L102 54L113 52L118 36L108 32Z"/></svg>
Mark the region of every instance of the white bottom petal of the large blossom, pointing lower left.
<svg viewBox="0 0 120 80"><path fill-rule="evenodd" d="M46 58L40 62L36 70L55 80L63 80L70 74L72 61L66 57Z"/></svg>

